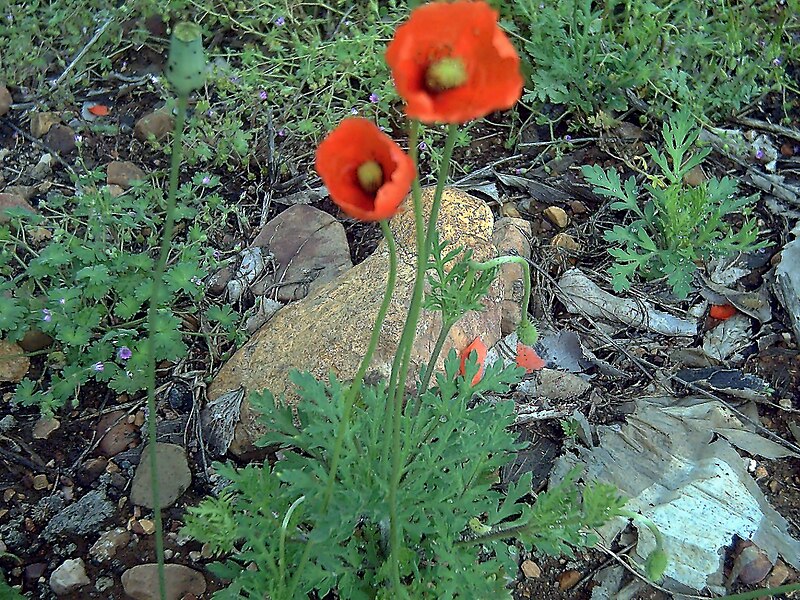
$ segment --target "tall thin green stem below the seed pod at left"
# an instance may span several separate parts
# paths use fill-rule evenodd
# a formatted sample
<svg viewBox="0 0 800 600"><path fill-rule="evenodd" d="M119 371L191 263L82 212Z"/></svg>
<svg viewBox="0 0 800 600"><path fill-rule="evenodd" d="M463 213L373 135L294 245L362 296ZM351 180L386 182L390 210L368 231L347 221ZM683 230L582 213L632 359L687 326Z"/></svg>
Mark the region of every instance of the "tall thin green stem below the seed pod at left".
<svg viewBox="0 0 800 600"><path fill-rule="evenodd" d="M189 97L178 96L178 115L175 120L175 135L172 138L172 161L169 172L169 193L167 194L166 213L164 215L164 232L161 237L161 249L153 271L153 286L150 294L150 305L147 308L147 327L149 343L147 348L147 437L150 448L150 477L153 486L153 514L155 522L156 562L158 563L158 590L161 600L166 600L167 585L164 577L164 527L161 522L161 504L159 499L158 460L156 458L156 355L155 333L156 315L160 292L167 268L167 256L175 229L175 196L178 192L178 172L181 165L183 146L183 127L186 122L186 106Z"/></svg>

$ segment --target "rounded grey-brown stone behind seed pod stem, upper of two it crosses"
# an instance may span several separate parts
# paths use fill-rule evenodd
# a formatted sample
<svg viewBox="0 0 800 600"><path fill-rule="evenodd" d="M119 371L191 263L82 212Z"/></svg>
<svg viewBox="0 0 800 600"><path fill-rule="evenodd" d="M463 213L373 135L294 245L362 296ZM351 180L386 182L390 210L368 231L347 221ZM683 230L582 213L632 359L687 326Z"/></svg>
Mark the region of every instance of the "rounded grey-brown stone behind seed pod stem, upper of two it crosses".
<svg viewBox="0 0 800 600"><path fill-rule="evenodd" d="M136 467L131 484L131 502L154 508L150 471L149 446L142 450L142 460ZM160 508L170 506L192 484L192 473L186 460L186 450L176 444L156 444Z"/></svg>

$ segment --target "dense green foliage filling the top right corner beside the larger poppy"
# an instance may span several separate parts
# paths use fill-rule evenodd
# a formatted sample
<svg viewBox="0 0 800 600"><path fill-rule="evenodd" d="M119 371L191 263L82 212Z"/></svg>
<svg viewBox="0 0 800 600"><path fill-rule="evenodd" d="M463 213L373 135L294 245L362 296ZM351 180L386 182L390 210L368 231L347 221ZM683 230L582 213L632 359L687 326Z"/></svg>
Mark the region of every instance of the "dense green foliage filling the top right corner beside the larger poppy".
<svg viewBox="0 0 800 600"><path fill-rule="evenodd" d="M525 100L586 117L626 110L631 92L656 114L677 105L724 118L792 85L796 3L520 0L507 12L531 65Z"/></svg>

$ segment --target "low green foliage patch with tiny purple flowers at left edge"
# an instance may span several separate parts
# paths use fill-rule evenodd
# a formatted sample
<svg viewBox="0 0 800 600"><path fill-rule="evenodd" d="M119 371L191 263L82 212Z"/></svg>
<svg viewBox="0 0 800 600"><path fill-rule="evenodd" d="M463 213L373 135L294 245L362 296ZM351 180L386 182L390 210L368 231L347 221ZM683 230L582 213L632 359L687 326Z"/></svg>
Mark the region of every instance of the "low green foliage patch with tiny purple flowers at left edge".
<svg viewBox="0 0 800 600"><path fill-rule="evenodd" d="M119 393L145 385L151 248L158 246L157 208L164 199L149 184L112 197L107 188L96 187L101 177L93 173L79 181L82 191L75 196L51 195L39 204L41 216L17 216L0 225L0 333L16 341L36 330L54 340L41 377L23 380L14 400L45 413L76 402L81 386L92 380ZM157 317L156 360L186 354L178 307L196 312L202 278L213 264L205 230L216 216L208 205L219 197L207 186L185 184L178 202L178 213L194 219L194 226L172 245ZM50 232L40 249L29 240L36 231ZM230 309L214 316L233 328Z"/></svg>

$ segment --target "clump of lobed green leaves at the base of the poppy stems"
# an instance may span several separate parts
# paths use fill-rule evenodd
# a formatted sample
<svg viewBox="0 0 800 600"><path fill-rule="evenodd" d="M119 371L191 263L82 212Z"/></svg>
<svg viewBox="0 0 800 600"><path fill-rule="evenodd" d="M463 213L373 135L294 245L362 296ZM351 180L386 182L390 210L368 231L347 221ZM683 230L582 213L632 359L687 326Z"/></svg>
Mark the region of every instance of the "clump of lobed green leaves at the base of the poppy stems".
<svg viewBox="0 0 800 600"><path fill-rule="evenodd" d="M593 542L588 528L622 506L603 486L588 487L581 497L577 473L532 506L526 502L530 474L505 493L497 490L497 470L522 447L508 429L513 406L469 401L476 393L506 392L521 370L490 365L472 387L477 369L470 359L459 375L459 360L451 352L446 372L421 396L419 411L404 416L401 574L412 598L510 598L506 585L518 568L513 538L569 555ZM386 389L383 384L361 389L326 508L324 490L347 388L333 375L322 383L294 373L292 381L301 398L295 411L269 392L251 396L271 432L261 444L279 445L281 460L243 469L216 464L231 484L219 498L189 509L186 531L229 556L212 567L232 580L215 598L283 600L331 590L354 600L389 598ZM255 569L245 568L253 564Z"/></svg>

